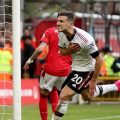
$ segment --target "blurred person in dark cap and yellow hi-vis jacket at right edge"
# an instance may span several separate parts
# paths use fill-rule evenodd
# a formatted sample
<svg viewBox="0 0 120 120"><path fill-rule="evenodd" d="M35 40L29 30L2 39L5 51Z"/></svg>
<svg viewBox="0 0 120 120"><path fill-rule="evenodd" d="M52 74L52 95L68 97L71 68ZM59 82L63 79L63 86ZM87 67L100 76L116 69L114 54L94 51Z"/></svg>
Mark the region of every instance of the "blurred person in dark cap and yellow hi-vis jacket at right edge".
<svg viewBox="0 0 120 120"><path fill-rule="evenodd" d="M113 50L106 45L101 50L103 56L103 64L101 67L101 76L120 76L120 57L113 56Z"/></svg>

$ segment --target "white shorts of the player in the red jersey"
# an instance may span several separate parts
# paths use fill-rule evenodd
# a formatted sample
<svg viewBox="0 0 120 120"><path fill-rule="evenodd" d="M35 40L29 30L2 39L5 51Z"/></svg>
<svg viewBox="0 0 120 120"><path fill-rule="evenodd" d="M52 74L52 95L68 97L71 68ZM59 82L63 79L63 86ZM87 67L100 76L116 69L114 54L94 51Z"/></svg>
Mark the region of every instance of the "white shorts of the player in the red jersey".
<svg viewBox="0 0 120 120"><path fill-rule="evenodd" d="M55 86L58 90L61 90L62 84L65 81L66 77L52 76L45 73L44 76L40 77L40 88L47 89L49 92L53 90Z"/></svg>

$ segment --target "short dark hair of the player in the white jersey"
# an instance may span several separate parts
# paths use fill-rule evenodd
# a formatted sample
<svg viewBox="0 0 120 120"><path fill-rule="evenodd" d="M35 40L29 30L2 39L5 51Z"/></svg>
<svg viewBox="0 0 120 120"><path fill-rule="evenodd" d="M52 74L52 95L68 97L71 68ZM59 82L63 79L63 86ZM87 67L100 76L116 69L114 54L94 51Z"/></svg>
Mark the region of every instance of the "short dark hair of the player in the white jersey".
<svg viewBox="0 0 120 120"><path fill-rule="evenodd" d="M62 11L62 12L59 12L58 15L57 15L57 17L59 17L59 16L66 16L68 18L68 20L71 20L71 21L75 20L75 15L71 11Z"/></svg>

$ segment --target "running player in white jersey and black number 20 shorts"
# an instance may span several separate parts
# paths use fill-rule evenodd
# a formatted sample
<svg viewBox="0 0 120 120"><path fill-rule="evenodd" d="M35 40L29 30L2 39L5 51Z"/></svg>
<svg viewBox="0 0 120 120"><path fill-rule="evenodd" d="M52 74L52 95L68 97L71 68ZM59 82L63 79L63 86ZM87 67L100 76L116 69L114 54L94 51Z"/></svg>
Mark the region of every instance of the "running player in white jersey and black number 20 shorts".
<svg viewBox="0 0 120 120"><path fill-rule="evenodd" d="M93 37L73 26L74 19L74 14L69 11L60 12L57 16L60 52L63 55L72 55L72 71L63 84L54 120L61 119L67 111L69 100L76 93L84 96L89 91L87 94L96 96L95 91L101 89L102 92L102 88L96 87L102 57ZM113 86L117 91L118 88Z"/></svg>

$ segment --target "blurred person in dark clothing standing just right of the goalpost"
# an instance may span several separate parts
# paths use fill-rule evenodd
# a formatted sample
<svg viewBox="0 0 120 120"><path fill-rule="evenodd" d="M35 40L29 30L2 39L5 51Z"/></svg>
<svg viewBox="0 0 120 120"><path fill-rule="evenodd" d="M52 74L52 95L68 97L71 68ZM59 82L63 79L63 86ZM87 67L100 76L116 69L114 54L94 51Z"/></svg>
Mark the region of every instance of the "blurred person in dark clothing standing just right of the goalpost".
<svg viewBox="0 0 120 120"><path fill-rule="evenodd" d="M36 48L36 40L33 36L31 26L26 26L23 31L23 36L21 37L21 77L37 77L37 75L34 75L36 72L36 61L30 66L28 71L23 70L23 65L25 63L25 60L29 55L32 54L34 49ZM28 40L27 40L28 39ZM30 50L30 51L28 51ZM27 54L27 55L25 55ZM32 71L33 69L33 71Z"/></svg>

